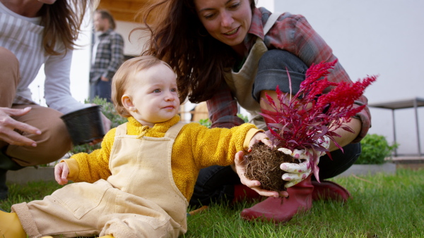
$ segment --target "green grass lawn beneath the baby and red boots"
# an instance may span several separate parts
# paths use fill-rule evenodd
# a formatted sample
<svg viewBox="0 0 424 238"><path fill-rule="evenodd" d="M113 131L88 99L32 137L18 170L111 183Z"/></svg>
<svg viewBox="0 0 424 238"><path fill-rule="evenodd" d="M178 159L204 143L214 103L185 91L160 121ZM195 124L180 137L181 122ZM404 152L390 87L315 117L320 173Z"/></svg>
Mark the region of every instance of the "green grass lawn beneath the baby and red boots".
<svg viewBox="0 0 424 238"><path fill-rule="evenodd" d="M344 206L317 201L310 212L274 225L240 219L240 211L252 203L215 204L189 216L189 231L184 237L424 237L423 169L332 181L352 194ZM11 184L11 198L0 201L0 207L10 211L13 203L42 199L59 187L54 182Z"/></svg>

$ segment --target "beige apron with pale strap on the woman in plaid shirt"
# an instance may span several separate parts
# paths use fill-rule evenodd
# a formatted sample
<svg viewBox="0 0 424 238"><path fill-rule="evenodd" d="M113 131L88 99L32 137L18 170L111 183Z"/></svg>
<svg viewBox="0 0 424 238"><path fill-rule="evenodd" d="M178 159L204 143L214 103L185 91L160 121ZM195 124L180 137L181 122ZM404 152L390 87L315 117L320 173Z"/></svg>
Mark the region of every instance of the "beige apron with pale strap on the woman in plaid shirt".
<svg viewBox="0 0 424 238"><path fill-rule="evenodd" d="M269 16L264 25L264 35L271 29L279 16L279 13L273 13ZM238 104L251 114L249 115L249 123L254 123L259 129L263 130L266 128L266 124L264 118L258 114L261 112L261 107L254 100L252 89L254 78L258 72L259 59L266 51L268 51L268 48L266 48L264 41L258 37L240 71L235 73L231 70L231 73L225 74L225 82L230 87L232 94L235 95Z"/></svg>

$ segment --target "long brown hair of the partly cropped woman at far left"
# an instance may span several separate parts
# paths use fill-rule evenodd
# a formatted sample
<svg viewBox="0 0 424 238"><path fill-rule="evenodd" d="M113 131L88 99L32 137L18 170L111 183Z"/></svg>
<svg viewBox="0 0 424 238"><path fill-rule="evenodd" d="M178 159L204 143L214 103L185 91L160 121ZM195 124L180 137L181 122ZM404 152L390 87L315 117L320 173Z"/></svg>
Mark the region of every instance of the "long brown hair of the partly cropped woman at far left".
<svg viewBox="0 0 424 238"><path fill-rule="evenodd" d="M94 10L98 2L99 0L58 0L54 4L44 4L39 14L41 25L45 27L42 33L42 46L46 53L59 55L74 49L86 11ZM58 42L64 44L65 51L54 50Z"/></svg>

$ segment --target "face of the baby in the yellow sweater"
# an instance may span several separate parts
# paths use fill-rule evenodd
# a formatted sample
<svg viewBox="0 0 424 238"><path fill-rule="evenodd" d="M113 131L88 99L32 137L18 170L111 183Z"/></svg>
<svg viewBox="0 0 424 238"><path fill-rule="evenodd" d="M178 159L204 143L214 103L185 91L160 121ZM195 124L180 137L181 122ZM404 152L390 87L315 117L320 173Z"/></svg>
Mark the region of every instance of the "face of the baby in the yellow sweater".
<svg viewBox="0 0 424 238"><path fill-rule="evenodd" d="M178 113L175 73L163 63L136 73L125 95L134 106L129 108L129 112L142 125L153 127L155 123L170 120Z"/></svg>

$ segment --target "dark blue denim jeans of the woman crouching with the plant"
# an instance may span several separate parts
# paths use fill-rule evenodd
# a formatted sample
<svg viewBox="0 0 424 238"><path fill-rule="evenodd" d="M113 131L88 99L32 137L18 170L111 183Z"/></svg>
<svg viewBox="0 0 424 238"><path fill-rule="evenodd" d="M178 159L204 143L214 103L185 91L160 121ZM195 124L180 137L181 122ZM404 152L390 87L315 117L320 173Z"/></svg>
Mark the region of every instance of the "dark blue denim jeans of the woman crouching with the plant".
<svg viewBox="0 0 424 238"><path fill-rule="evenodd" d="M259 102L262 90L275 90L276 86L282 92L298 92L300 83L305 80L307 65L288 51L273 49L266 51L261 57L258 73L254 80L252 96ZM289 76L290 75L290 81ZM360 144L348 144L343 151L332 151L331 156L322 156L319 161L319 178L325 180L347 170L358 159ZM312 176L312 180L315 178ZM234 199L234 185L241 184L240 178L230 166L211 166L200 170L194 186L190 206L198 207L211 202L228 202Z"/></svg>

